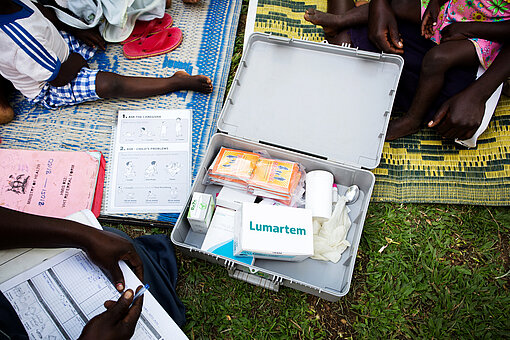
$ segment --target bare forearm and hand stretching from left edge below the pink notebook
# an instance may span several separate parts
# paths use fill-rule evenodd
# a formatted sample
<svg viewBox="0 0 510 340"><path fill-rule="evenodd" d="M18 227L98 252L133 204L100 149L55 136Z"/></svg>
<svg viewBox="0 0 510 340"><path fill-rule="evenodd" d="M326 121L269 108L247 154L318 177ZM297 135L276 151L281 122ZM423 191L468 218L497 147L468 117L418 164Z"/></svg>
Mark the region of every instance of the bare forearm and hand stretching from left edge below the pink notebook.
<svg viewBox="0 0 510 340"><path fill-rule="evenodd" d="M118 265L126 261L143 281L143 264L131 242L103 230L59 218L37 216L0 207L0 249L79 248L109 275L123 291L124 276Z"/></svg>

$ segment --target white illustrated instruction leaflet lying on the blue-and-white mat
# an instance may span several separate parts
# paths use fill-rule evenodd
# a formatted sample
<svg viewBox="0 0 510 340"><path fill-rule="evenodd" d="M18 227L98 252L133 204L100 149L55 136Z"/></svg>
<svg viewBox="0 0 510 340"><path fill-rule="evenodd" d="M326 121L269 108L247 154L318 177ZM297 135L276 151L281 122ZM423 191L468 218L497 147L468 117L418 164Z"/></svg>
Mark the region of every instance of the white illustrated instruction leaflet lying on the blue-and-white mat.
<svg viewBox="0 0 510 340"><path fill-rule="evenodd" d="M108 213L179 213L191 186L191 110L119 111Z"/></svg>

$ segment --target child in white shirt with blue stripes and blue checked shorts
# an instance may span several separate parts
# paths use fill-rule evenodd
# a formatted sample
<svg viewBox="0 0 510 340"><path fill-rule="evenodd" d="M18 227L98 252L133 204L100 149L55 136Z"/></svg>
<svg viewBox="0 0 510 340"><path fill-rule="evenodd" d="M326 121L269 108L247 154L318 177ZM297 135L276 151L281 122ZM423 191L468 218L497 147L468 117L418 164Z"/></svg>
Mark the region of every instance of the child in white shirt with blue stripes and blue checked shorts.
<svg viewBox="0 0 510 340"><path fill-rule="evenodd" d="M87 60L101 45L89 30L63 25L55 13L30 0L6 0L0 8L0 75L30 103L54 109L102 98L145 98L173 91L212 92L211 79L178 71L168 78L130 77L91 70ZM92 36L92 38L91 38ZM94 40L94 36L96 39ZM3 90L5 86L0 87ZM5 92L0 93L0 123L13 119Z"/></svg>

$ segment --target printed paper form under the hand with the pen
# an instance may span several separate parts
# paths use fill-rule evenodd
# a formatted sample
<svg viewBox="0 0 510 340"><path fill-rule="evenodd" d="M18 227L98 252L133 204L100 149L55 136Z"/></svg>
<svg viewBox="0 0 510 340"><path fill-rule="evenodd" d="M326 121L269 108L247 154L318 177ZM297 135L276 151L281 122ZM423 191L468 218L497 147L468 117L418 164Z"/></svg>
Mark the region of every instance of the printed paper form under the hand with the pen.
<svg viewBox="0 0 510 340"><path fill-rule="evenodd" d="M126 287L141 282L124 262ZM106 300L120 296L106 275L78 249L70 249L0 285L31 339L76 339L85 324L105 311ZM152 296L144 294L143 310L132 339L187 339Z"/></svg>

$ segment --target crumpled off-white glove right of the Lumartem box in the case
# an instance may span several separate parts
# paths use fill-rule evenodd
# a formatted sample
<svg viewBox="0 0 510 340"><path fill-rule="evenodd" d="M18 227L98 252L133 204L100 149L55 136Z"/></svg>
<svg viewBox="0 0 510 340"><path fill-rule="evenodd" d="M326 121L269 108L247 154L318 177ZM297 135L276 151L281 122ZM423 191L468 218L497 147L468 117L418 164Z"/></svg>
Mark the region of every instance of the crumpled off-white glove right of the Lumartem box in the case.
<svg viewBox="0 0 510 340"><path fill-rule="evenodd" d="M345 203L346 198L340 197L331 218L322 225L319 220L314 219L312 259L337 263L345 249L350 247L346 237L351 227L351 219Z"/></svg>

